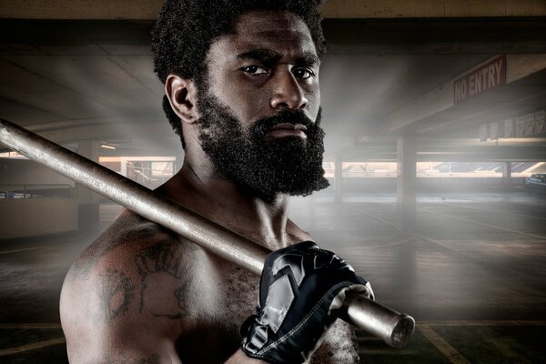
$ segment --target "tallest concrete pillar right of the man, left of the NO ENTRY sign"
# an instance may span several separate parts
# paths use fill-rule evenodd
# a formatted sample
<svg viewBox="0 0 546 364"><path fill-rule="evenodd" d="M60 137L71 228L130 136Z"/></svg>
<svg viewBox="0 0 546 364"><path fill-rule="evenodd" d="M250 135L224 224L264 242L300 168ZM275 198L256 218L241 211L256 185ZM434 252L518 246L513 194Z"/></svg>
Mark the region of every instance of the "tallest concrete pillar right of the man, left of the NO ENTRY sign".
<svg viewBox="0 0 546 364"><path fill-rule="evenodd" d="M399 136L397 139L397 202L399 228L415 229L417 195L417 141L415 136Z"/></svg>

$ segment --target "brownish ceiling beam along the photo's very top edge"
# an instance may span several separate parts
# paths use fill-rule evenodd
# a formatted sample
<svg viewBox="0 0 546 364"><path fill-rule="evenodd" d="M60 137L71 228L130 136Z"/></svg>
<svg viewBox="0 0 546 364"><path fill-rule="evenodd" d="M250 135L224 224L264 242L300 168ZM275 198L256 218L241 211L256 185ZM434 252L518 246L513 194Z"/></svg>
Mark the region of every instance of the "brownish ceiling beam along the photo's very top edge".
<svg viewBox="0 0 546 364"><path fill-rule="evenodd" d="M4 19L155 19L162 0L5 0ZM541 0L329 0L325 18L543 16Z"/></svg>

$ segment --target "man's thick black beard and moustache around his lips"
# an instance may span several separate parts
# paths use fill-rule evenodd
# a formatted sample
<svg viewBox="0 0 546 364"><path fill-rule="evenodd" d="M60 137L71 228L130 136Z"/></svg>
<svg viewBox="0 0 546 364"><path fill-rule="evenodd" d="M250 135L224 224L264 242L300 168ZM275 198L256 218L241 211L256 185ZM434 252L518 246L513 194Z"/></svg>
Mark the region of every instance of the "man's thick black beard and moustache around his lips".
<svg viewBox="0 0 546 364"><path fill-rule="evenodd" d="M315 122L301 111L281 111L245 131L227 106L204 94L197 102L199 141L217 172L267 200L278 194L308 196L329 187L322 167L321 110ZM268 130L280 123L306 126L307 139L287 136L268 140Z"/></svg>

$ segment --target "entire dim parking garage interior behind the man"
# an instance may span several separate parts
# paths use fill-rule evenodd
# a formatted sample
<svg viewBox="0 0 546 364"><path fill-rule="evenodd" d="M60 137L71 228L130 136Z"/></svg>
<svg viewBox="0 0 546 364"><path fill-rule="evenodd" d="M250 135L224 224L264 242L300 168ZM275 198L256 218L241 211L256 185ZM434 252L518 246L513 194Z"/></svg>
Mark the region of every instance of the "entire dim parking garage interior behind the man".
<svg viewBox="0 0 546 364"><path fill-rule="evenodd" d="M160 186L184 157L153 72L160 3L3 2L0 117ZM546 4L331 0L323 14L330 187L290 215L417 322L403 349L357 329L360 362L542 362ZM0 362L67 362L63 279L122 208L0 145Z"/></svg>

